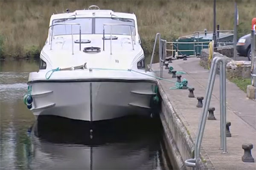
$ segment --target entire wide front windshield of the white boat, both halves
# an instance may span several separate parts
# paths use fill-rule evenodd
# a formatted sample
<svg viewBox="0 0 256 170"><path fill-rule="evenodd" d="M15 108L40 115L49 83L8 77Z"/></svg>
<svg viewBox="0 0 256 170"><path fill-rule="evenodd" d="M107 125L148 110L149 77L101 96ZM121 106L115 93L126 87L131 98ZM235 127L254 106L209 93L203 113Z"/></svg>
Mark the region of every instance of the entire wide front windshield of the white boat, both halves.
<svg viewBox="0 0 256 170"><path fill-rule="evenodd" d="M104 24L121 24L122 26L112 26L112 34L130 35L131 31L134 32L134 20L127 18L63 18L53 20L52 24L59 23L79 23L81 26L81 34L103 34ZM93 26L93 23L95 26ZM123 26L128 25L128 26ZM105 26L105 34L110 34L111 26ZM56 25L53 28L54 35L72 34L71 25ZM79 26L73 25L73 34L79 34Z"/></svg>

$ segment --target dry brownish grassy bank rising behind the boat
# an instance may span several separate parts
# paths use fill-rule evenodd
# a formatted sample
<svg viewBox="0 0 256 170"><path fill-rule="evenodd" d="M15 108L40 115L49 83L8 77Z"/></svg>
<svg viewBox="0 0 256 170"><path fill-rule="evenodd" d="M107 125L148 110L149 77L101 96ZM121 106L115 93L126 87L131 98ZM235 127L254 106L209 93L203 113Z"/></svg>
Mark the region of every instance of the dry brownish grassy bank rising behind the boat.
<svg viewBox="0 0 256 170"><path fill-rule="evenodd" d="M47 38L49 17L60 13L97 5L101 9L129 12L137 15L139 33L145 54L150 54L154 36L160 32L167 40L191 34L193 31L212 31L213 1L202 0L17 0L0 1L0 55L9 58L31 57L39 53ZM217 0L216 20L221 29L233 29L234 1ZM255 0L238 1L239 35L250 32L251 19L256 14Z"/></svg>

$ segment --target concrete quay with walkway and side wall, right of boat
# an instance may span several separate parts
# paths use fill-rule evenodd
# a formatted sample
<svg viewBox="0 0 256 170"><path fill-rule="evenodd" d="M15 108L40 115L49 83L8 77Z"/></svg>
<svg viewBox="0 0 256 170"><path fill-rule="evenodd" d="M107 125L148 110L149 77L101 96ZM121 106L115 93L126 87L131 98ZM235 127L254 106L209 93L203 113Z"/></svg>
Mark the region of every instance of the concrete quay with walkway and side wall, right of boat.
<svg viewBox="0 0 256 170"><path fill-rule="evenodd" d="M197 96L205 96L209 70L199 65L199 58L173 60L169 63L176 71L185 71L181 79L188 80L188 86L194 87L195 98L189 98L189 91L170 89L175 83L158 80L162 98L160 118L166 138L169 139L170 155L175 159L174 167L189 169L184 165L186 159L194 154L194 143L198 130L198 122L202 108L197 108ZM159 71L159 63L152 65ZM159 72L157 72L159 73ZM159 75L158 75L159 76ZM176 81L168 70L164 70L163 78ZM229 80L227 85L227 121L231 122L231 137L227 137L228 154L221 154L220 148L220 102L219 75L216 75L210 107L215 107L216 120L207 120L201 145L202 169L217 170L256 170L256 102L247 99L246 94ZM245 163L243 143L252 143L253 163Z"/></svg>

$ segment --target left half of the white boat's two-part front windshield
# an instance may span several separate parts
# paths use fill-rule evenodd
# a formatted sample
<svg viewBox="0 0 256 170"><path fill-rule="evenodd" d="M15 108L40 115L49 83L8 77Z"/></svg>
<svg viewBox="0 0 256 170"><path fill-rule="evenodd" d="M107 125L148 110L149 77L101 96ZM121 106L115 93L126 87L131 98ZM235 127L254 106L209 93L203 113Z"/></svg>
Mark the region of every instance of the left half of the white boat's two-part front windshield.
<svg viewBox="0 0 256 170"><path fill-rule="evenodd" d="M53 24L61 23L79 23L81 34L92 34L92 18L63 18L53 20ZM53 28L54 35L72 34L71 25L58 25ZM73 25L73 34L79 34L79 26Z"/></svg>

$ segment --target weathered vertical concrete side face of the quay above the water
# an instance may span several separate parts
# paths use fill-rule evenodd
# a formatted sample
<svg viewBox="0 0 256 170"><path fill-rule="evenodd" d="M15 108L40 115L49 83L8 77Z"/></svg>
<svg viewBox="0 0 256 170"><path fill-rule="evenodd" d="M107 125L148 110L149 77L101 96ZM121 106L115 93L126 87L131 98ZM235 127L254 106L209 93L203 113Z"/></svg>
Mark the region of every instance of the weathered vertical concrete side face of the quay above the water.
<svg viewBox="0 0 256 170"><path fill-rule="evenodd" d="M184 123L176 113L175 108L172 106L172 103L166 96L162 88L162 85L159 83L158 80L157 82L158 90L162 99L160 119L163 125L165 137L166 139L168 139L168 155L172 160L172 166L174 167L174 169L189 169L189 167L186 167L185 161L186 159L194 157L195 143L192 137L190 136L189 130L184 125ZM204 148L202 147L201 157L203 160L208 161L201 161L200 169L215 169L212 162L209 161L210 159L207 153L204 151Z"/></svg>

